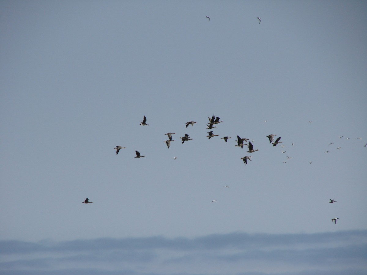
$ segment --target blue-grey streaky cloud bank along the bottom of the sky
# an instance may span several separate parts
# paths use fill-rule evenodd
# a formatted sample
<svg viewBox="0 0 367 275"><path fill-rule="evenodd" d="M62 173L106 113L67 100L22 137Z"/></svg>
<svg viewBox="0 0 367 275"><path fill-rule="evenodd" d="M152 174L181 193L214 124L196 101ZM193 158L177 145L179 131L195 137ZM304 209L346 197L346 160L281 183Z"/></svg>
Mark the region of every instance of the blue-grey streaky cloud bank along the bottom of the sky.
<svg viewBox="0 0 367 275"><path fill-rule="evenodd" d="M365 274L367 231L0 241L0 254L1 274Z"/></svg>

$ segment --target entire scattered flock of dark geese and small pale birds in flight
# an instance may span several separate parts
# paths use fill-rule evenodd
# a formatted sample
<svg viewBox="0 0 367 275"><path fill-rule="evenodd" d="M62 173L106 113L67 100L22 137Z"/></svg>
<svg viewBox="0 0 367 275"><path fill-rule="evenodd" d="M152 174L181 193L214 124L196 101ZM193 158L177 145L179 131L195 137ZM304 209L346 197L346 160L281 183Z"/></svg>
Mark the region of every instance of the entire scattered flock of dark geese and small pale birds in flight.
<svg viewBox="0 0 367 275"><path fill-rule="evenodd" d="M207 17L210 21L210 18ZM259 21L261 22L260 18L257 18L259 19ZM213 129L213 128L217 128L217 126L214 126L214 125L217 125L219 123L222 123L223 121L220 121L220 118L219 117L215 117L215 115L212 115L212 117L208 117L209 119L209 123L207 124L207 128L206 129ZM265 120L264 122L267 122L267 120ZM309 123L312 123L312 121L308 121ZM191 126L194 126L194 124L196 123L196 121L189 121L189 122L186 122L186 126L185 128L187 128L189 125ZM140 122L140 125L142 126L149 126L149 124L146 123L146 117L144 115L143 117L143 121ZM207 132L208 135L208 139L210 140L212 137L214 136L218 136L218 135L214 135L213 134L213 131L209 131ZM175 140L172 140L172 135L176 135L176 133L166 133L164 135L167 135L168 139L166 141L164 141L167 145L167 148L169 149L170 148L170 144L171 142L174 142ZM274 137L276 135L275 134L270 134L266 137L268 137L269 139L269 142L270 144L273 144L273 146L277 146L277 144L279 143L282 143L280 141L281 137L278 137L275 141L274 141ZM343 136L339 136L338 138L341 139ZM232 137L229 137L229 136L225 136L225 137L222 137L221 139L223 139L225 142L228 142L228 139L231 139ZM192 140L192 138L189 137L188 134L185 133L184 136L181 136L180 137L181 139L181 142L182 143L185 143L185 141L189 141L189 140ZM349 139L349 137L346 137L345 139ZM361 140L362 138L361 137L357 137L357 139ZM253 144L249 141L249 139L247 138L241 138L239 135L237 135L237 140L236 140L237 144L235 145L236 147L241 147L243 148L244 146L247 146L248 148L248 151L246 153L254 153L256 151L259 151L259 149L256 149L254 150L254 146ZM253 142L253 141L252 141ZM330 146L331 144L334 144L334 142L331 142L328 146ZM292 143L292 145L294 145L294 143ZM280 146L284 146L284 145L280 145ZM364 147L367 147L367 143L364 145ZM116 150L116 155L119 154L119 151L120 149L126 149L126 147L121 147L120 145L117 145L116 148L114 148ZM337 149L341 149L341 147L338 147ZM145 157L143 155L140 155L140 152L139 151L136 151L135 150L135 153L136 153L136 157L135 158L142 158L142 157ZM282 151L282 153L286 153L286 151ZM329 153L329 151L326 151L325 153ZM241 160L243 160L244 164L247 165L247 161L251 161L251 158L252 156L244 156L244 157L241 157ZM287 159L291 159L292 157L288 157L287 156ZM174 159L177 159L177 157L174 157ZM283 163L286 163L286 161L284 161ZM312 162L309 162L310 164ZM227 187L229 188L228 185L224 186L224 187ZM212 202L216 202L217 200L213 200ZM334 202L337 202L335 201L334 199L330 199L330 202L329 203L334 203ZM83 203L93 203L91 201L89 201L88 198L85 199L85 201ZM334 222L335 224L337 223L337 220L339 220L339 218L333 218L331 219L332 222Z"/></svg>

